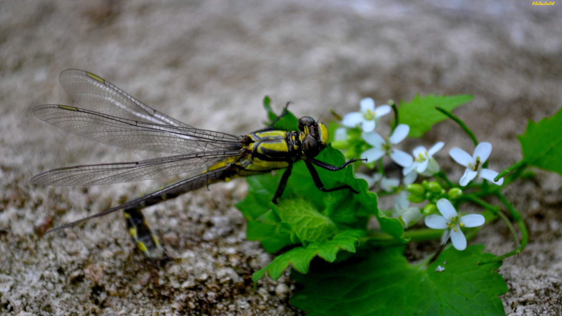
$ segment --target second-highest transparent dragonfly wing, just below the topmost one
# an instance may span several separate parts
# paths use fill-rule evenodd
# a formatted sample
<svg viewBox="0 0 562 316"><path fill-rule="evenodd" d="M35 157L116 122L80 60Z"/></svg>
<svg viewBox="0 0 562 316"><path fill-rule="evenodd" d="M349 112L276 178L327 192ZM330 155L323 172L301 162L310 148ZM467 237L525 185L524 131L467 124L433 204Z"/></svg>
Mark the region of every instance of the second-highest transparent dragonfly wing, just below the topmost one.
<svg viewBox="0 0 562 316"><path fill-rule="evenodd" d="M33 114L67 132L130 150L187 154L242 147L230 134L117 118L78 107L40 105Z"/></svg>

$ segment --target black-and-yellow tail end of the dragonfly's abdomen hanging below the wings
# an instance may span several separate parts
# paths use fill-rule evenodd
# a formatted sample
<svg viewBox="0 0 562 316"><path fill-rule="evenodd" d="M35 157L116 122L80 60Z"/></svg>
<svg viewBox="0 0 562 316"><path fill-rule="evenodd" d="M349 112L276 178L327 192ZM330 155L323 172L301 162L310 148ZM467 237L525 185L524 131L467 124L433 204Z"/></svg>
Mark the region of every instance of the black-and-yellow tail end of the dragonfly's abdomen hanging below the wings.
<svg viewBox="0 0 562 316"><path fill-rule="evenodd" d="M142 206L133 205L123 210L127 230L135 245L147 258L162 259L165 256L164 249L156 234L151 232L141 209Z"/></svg>

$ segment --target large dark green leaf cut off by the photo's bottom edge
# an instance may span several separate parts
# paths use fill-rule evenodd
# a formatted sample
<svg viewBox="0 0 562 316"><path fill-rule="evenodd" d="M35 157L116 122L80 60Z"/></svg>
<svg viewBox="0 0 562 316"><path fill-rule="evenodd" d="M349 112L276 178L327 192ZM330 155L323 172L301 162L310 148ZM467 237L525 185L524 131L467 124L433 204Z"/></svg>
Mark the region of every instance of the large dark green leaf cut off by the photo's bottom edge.
<svg viewBox="0 0 562 316"><path fill-rule="evenodd" d="M496 258L483 250L484 245L464 251L451 247L429 267L407 263L402 246L365 251L306 275L293 272L304 288L293 294L291 304L309 316L505 315L497 296L507 286L494 272L501 261L478 265ZM445 270L437 272L438 265Z"/></svg>

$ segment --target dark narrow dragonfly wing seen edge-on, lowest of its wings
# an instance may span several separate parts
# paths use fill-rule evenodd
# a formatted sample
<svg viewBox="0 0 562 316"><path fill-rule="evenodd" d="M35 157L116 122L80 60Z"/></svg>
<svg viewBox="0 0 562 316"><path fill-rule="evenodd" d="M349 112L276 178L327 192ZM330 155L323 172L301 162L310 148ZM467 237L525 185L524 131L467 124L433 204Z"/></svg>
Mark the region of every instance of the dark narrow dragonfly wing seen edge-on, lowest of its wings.
<svg viewBox="0 0 562 316"><path fill-rule="evenodd" d="M191 191L191 190L194 190L194 189L201 188L201 187L205 186L207 183L209 183L209 181L221 179L224 171L226 171L227 169L228 169L228 167L225 166L225 167L221 167L221 168L209 171L207 173L196 175L196 176L191 177L189 179L181 180L180 182L174 183L169 187L160 189L156 192L145 195L143 197L135 198L135 200L131 200L129 202L126 202L125 204L121 204L121 205L113 207L111 209L102 211L98 214L88 216L87 218L76 220L76 222L68 223L68 224L59 226L57 228L49 229L49 231L47 231L46 233L58 231L60 229L64 229L64 228L67 228L67 227L72 227L76 224L83 223L83 222L85 222L89 219L96 218L96 217L99 217L99 216L103 216L103 215L112 213L114 211L124 209L125 207L129 207L129 206L132 206L132 205L135 205L135 204L142 203L146 200L158 197L160 195L164 195L165 193L168 193L168 192L175 192L175 191L188 192L188 191Z"/></svg>

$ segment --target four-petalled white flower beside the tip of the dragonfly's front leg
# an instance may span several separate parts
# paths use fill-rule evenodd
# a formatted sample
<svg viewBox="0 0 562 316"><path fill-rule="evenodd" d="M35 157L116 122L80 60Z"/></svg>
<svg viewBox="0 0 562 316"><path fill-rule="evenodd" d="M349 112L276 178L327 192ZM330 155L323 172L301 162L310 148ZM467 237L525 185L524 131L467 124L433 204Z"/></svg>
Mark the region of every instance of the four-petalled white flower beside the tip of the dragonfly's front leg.
<svg viewBox="0 0 562 316"><path fill-rule="evenodd" d="M367 159L366 163L377 161L380 157L387 154L398 165L409 167L414 159L406 152L392 148L392 146L400 143L410 133L410 127L406 124L398 124L388 140L384 140L377 132L363 132L361 136L369 145L373 146L361 153L361 159Z"/></svg>

